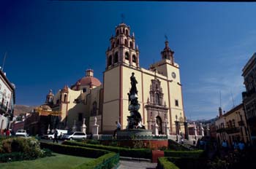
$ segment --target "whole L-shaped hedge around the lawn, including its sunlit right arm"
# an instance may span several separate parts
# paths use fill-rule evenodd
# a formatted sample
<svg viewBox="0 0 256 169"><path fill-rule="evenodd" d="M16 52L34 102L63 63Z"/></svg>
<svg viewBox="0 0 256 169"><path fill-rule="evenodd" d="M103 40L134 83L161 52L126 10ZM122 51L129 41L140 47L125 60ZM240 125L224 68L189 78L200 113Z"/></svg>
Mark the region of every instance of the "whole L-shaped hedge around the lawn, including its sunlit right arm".
<svg viewBox="0 0 256 169"><path fill-rule="evenodd" d="M60 154L97 158L90 162L85 162L81 165L78 165L78 167L75 169L110 169L113 168L114 165L117 165L119 162L119 154L102 149L91 149L82 146L69 146L43 142L41 142L41 147L48 148L53 152Z"/></svg>

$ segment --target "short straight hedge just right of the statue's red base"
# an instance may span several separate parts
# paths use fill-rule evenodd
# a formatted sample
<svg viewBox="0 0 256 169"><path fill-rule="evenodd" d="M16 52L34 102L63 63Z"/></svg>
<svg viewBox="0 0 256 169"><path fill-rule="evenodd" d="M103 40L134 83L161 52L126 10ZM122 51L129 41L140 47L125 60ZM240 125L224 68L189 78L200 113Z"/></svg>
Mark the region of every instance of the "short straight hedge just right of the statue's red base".
<svg viewBox="0 0 256 169"><path fill-rule="evenodd" d="M203 157L203 150L195 151L171 151L165 150L165 157L199 158Z"/></svg>

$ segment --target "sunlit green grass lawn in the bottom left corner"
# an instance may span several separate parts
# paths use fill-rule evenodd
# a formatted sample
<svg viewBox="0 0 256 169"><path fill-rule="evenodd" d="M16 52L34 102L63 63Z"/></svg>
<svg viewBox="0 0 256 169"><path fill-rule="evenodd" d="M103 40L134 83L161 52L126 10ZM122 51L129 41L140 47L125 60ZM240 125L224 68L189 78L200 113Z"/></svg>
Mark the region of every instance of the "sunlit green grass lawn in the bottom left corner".
<svg viewBox="0 0 256 169"><path fill-rule="evenodd" d="M76 157L64 154L53 153L52 157L40 158L38 160L26 160L19 162L1 163L1 169L50 169L50 168L75 168L76 166L93 160L92 158Z"/></svg>

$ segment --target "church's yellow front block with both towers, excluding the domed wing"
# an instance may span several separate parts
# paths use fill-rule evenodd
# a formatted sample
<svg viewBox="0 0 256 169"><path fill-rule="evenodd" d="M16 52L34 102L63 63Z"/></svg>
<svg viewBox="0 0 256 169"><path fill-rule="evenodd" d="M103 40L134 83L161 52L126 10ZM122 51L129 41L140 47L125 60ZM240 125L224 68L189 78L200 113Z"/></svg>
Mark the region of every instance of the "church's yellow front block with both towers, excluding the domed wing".
<svg viewBox="0 0 256 169"><path fill-rule="evenodd" d="M125 23L116 26L115 36L110 37L106 51L103 81L102 132L113 133L115 122L127 127L129 116L130 76L135 73L138 81L138 102L142 123L146 129L159 126L159 134L184 132L185 121L179 66L174 62L174 52L165 41L161 59L146 68L140 67L135 35ZM143 60L141 60L143 61ZM178 123L177 123L178 122ZM178 126L177 126L178 124Z"/></svg>

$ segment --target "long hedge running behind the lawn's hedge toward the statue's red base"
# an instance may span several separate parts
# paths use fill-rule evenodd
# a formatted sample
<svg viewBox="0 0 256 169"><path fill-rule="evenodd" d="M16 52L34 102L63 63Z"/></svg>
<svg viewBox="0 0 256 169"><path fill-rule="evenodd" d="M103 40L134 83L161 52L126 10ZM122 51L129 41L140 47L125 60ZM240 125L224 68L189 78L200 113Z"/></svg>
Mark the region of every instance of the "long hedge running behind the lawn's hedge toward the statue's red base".
<svg viewBox="0 0 256 169"><path fill-rule="evenodd" d="M83 146L93 149L105 149L110 152L119 153L122 157L135 157L135 158L146 158L151 159L152 152L151 149L128 149L124 147L117 147L117 146L103 146L103 145L95 145L95 144L83 144L80 142L74 141L64 141L62 144L70 145L70 146Z"/></svg>

